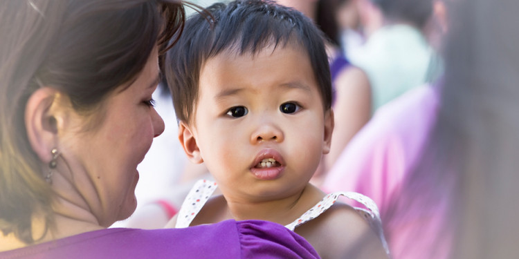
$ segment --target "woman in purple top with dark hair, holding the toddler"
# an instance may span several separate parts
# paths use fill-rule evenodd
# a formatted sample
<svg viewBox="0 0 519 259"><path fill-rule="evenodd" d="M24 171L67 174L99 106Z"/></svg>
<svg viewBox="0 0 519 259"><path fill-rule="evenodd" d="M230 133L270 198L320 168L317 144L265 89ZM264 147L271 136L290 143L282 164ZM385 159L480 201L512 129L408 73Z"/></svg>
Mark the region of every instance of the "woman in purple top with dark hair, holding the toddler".
<svg viewBox="0 0 519 259"><path fill-rule="evenodd" d="M184 17L167 0L2 3L0 258L317 257L267 222L107 229L136 208L164 129L158 59Z"/></svg>

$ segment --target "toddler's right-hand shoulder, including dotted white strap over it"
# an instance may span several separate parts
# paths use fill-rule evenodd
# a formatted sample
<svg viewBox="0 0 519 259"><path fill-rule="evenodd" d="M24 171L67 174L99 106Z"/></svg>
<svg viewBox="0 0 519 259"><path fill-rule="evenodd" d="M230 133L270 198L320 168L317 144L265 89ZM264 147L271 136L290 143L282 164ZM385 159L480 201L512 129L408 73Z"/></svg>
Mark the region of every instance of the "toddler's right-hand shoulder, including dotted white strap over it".
<svg viewBox="0 0 519 259"><path fill-rule="evenodd" d="M341 196L366 209L338 202ZM329 193L301 218L304 224L295 231L309 240L322 258L350 258L353 251L372 252L365 258L387 258L379 211L370 198L360 193Z"/></svg>

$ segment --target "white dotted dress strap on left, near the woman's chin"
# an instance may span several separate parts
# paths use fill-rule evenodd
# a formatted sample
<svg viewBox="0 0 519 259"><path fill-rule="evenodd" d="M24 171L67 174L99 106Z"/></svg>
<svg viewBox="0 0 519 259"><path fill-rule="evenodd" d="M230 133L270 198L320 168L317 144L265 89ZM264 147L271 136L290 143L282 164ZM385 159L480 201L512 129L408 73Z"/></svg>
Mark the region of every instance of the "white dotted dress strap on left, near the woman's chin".
<svg viewBox="0 0 519 259"><path fill-rule="evenodd" d="M189 227L194 217L217 189L217 183L210 180L198 180L185 197L179 215L176 218L176 229Z"/></svg>

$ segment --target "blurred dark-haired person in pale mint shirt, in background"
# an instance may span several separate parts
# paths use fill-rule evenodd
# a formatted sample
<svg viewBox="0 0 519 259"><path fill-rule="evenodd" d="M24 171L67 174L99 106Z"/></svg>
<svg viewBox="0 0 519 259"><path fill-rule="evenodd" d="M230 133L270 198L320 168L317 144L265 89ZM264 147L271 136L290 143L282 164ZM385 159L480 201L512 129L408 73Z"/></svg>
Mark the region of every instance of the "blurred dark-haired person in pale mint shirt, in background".
<svg viewBox="0 0 519 259"><path fill-rule="evenodd" d="M435 50L424 28L432 18L433 0L359 0L366 42L348 54L371 84L371 110L433 81L437 72ZM431 65L432 64L432 65Z"/></svg>

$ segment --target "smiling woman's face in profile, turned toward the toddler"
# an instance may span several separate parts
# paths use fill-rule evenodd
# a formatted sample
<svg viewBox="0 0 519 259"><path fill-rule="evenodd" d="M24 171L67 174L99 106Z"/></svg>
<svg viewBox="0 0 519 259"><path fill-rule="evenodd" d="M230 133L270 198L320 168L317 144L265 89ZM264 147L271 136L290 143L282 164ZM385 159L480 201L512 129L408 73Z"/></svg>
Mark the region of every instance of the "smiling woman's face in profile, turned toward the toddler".
<svg viewBox="0 0 519 259"><path fill-rule="evenodd" d="M78 131L60 136L60 144L64 144L61 156L71 172L64 177L83 200L80 206L103 227L128 218L136 209L137 165L153 138L164 130L164 122L151 104L158 76L155 50L129 87L114 90L103 101L99 125L84 132L85 117L73 113Z"/></svg>

